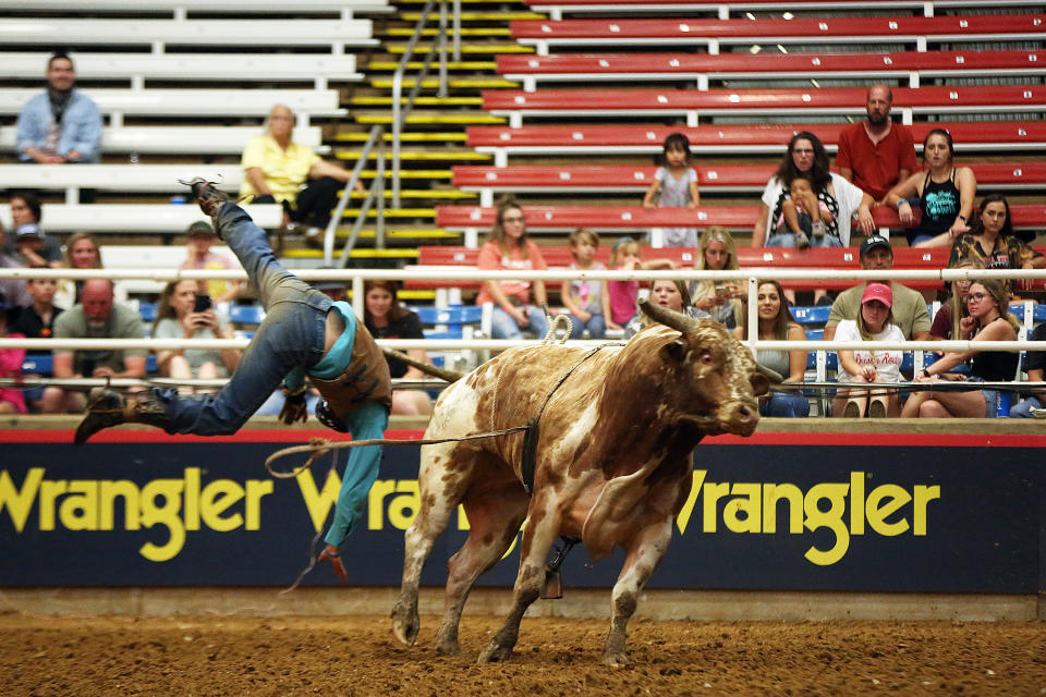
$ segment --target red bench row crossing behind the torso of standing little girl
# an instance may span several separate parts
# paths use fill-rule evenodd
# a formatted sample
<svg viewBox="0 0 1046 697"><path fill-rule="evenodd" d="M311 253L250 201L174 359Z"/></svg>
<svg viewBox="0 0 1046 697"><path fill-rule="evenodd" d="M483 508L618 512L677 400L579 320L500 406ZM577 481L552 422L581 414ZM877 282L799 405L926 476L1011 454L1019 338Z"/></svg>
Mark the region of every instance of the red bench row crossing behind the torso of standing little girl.
<svg viewBox="0 0 1046 697"><path fill-rule="evenodd" d="M1046 162L971 162L977 185L990 191L1046 188ZM645 192L654 181L654 166L457 166L454 186L479 193L479 205L490 206L496 193ZM702 192L762 192L777 172L776 164L695 164ZM0 168L2 175L2 168Z"/></svg>

